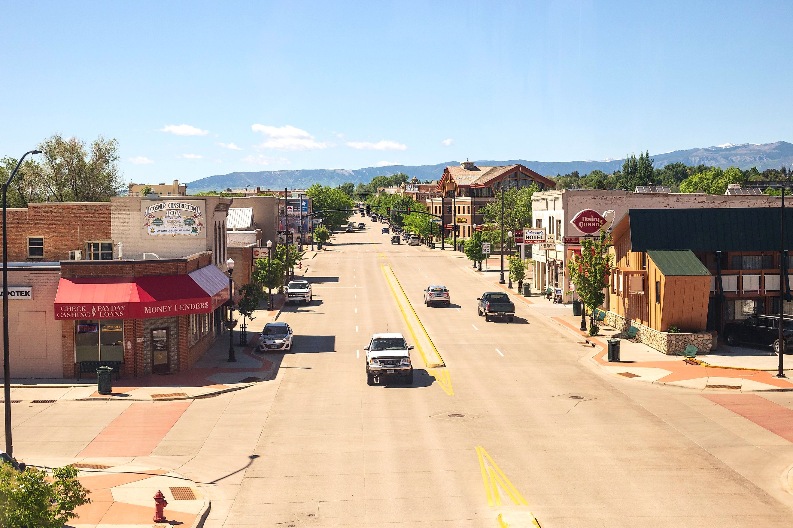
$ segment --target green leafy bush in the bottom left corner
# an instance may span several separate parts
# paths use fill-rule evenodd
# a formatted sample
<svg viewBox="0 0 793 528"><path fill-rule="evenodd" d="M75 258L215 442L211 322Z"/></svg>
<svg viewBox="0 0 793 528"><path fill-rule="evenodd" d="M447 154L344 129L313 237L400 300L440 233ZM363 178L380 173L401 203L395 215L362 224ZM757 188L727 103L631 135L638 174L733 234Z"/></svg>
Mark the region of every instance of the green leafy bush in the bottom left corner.
<svg viewBox="0 0 793 528"><path fill-rule="evenodd" d="M77 516L76 507L91 502L77 473L73 465L53 469L52 477L35 468L19 472L0 465L0 526L61 528Z"/></svg>

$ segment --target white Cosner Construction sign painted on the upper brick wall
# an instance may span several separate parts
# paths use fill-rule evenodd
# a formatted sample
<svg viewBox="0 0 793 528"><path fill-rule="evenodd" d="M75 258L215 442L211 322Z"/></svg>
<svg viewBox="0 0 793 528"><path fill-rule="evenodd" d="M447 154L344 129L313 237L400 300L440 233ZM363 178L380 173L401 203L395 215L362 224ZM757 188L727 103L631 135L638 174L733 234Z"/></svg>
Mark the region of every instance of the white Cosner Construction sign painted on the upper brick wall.
<svg viewBox="0 0 793 528"><path fill-rule="evenodd" d="M206 200L140 203L144 237L206 237Z"/></svg>

